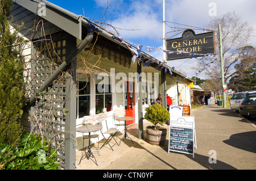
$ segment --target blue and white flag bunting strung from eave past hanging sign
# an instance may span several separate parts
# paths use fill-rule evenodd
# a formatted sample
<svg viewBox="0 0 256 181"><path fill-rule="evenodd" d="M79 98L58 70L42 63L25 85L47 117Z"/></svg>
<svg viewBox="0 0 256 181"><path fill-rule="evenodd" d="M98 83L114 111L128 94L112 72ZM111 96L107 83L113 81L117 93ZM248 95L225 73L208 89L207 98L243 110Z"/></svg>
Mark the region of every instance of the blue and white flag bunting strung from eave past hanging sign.
<svg viewBox="0 0 256 181"><path fill-rule="evenodd" d="M99 30L96 26L94 26L94 24L92 22L90 22L89 20L88 20L87 28L88 28L88 32L93 32L93 31L101 32L101 30ZM133 43L130 42L129 44L127 44L126 43L127 40L123 41L122 37L115 36L115 35L110 35L110 37L112 37L112 39L118 41L119 43L125 45L127 48L129 48L131 50L131 53L133 54L133 57L131 58L131 60L133 61L133 63L135 63L136 60L138 60L138 64L139 64L139 62L141 62L141 52L142 52L142 48L143 48L142 45L135 45L134 44L135 47L137 46L137 49L134 49L133 47L131 47L131 44L133 44ZM196 75L201 73L205 68L209 67L210 64L212 64L214 62L213 61L213 58L214 58L214 54L213 53L198 54L198 53L185 52L184 50L179 50L179 51L166 50L166 49L162 49L162 48L156 48L155 46L153 46L153 47L145 46L145 47L147 48L148 52L151 52L152 50L155 50L155 49L159 49L159 50L162 50L164 53L167 53L167 54L171 54L171 53L178 53L178 54L188 53L189 56L190 56L189 58L197 58L197 57L203 55L203 57L200 60L210 60L210 62L208 64L205 64L204 68L198 70L198 72L196 72ZM214 60L217 60L217 58L214 58ZM142 61L142 64L143 64L144 68L147 68L148 66L152 65L153 63L154 63L154 61L152 61L152 60ZM162 71L164 69L164 73L166 73L167 70L169 70L171 75L172 75L172 71L171 70L175 69L174 67L168 68L166 65L164 65L160 61L157 62L157 64L155 65L154 68L156 70L159 70L159 71Z"/></svg>

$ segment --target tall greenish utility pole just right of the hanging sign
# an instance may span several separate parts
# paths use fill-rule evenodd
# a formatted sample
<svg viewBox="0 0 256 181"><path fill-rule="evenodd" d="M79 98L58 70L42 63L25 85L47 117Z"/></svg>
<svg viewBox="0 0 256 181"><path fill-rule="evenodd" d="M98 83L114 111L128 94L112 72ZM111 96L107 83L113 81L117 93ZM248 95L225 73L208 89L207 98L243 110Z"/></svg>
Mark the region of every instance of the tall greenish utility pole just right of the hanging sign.
<svg viewBox="0 0 256 181"><path fill-rule="evenodd" d="M224 83L224 63L223 63L223 56L222 56L222 37L221 37L221 25L218 25L218 37L220 42L220 62L221 62L221 87L222 87L222 96L223 96L223 107L226 107L226 92L224 88L226 88Z"/></svg>

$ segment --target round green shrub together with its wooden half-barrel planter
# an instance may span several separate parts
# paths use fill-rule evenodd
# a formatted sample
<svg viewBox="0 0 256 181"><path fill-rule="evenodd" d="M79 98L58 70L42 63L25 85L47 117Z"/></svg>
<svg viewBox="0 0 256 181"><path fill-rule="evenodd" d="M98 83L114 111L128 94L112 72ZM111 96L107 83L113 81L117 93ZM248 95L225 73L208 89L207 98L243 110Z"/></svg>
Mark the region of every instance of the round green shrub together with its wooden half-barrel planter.
<svg viewBox="0 0 256 181"><path fill-rule="evenodd" d="M170 117L169 111L158 103L147 107L145 110L144 119L154 124L146 127L147 142L152 145L163 145L166 141L167 129L159 127L158 124L163 126L168 121Z"/></svg>

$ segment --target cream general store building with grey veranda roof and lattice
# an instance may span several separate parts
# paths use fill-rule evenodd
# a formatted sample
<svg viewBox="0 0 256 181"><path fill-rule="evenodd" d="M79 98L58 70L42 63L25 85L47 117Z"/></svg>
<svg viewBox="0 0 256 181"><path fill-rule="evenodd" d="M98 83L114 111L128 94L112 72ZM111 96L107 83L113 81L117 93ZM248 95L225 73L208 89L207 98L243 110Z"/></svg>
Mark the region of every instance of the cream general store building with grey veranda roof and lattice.
<svg viewBox="0 0 256 181"><path fill-rule="evenodd" d="M10 20L14 27L24 23L19 32L28 41L23 47L30 98L24 128L47 134L62 169L75 169L81 149L76 128L84 116L106 112L112 125L114 110L125 109L135 117L130 125L143 124L144 108L158 94L164 107L166 94L173 105L191 103L187 83L192 79L114 33L44 0L13 2Z"/></svg>

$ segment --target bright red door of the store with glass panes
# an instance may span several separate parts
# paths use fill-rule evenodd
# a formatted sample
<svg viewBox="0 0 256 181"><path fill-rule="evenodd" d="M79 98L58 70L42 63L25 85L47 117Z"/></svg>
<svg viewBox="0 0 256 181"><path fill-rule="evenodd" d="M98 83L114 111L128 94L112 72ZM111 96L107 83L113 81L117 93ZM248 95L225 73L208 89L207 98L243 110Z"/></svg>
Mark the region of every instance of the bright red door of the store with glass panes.
<svg viewBox="0 0 256 181"><path fill-rule="evenodd" d="M135 117L135 108L134 108L134 82L126 82L125 92L125 116ZM135 119L131 121L126 121L127 125L135 123Z"/></svg>

